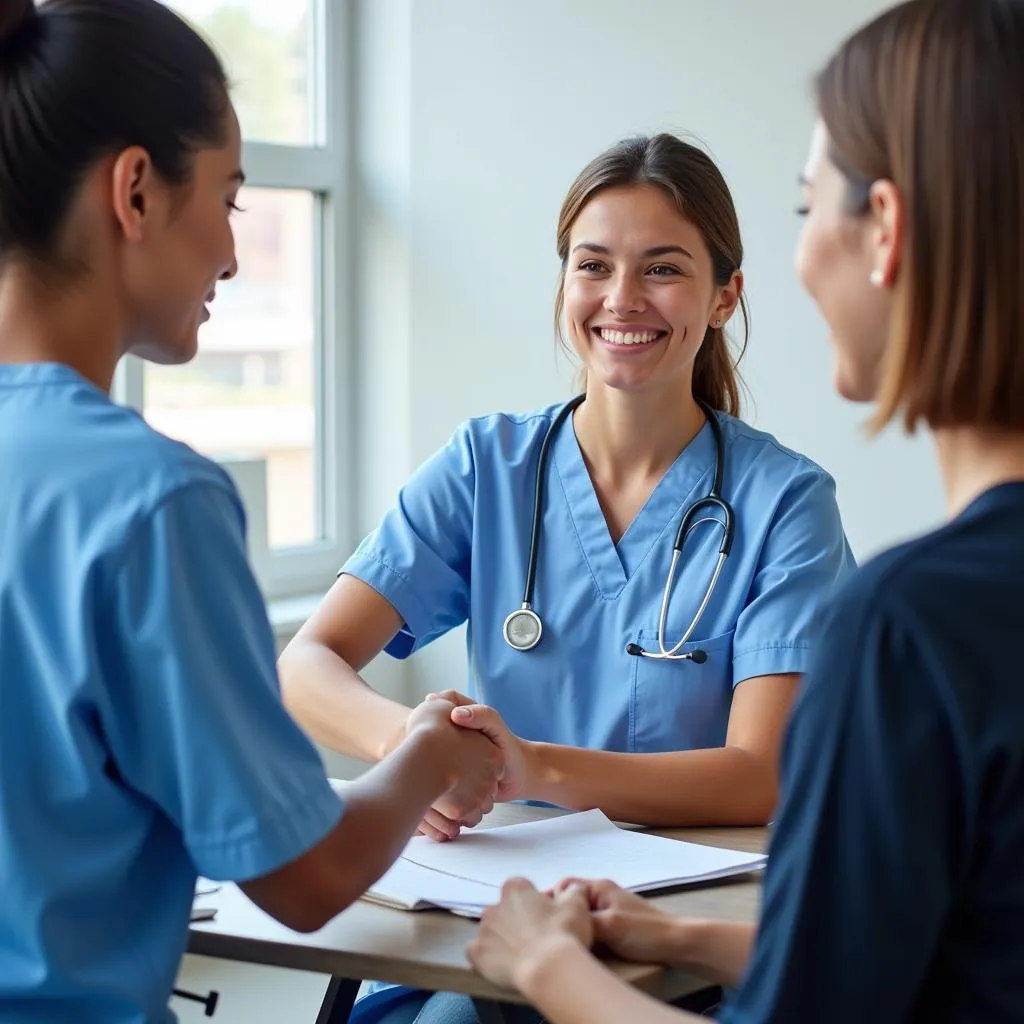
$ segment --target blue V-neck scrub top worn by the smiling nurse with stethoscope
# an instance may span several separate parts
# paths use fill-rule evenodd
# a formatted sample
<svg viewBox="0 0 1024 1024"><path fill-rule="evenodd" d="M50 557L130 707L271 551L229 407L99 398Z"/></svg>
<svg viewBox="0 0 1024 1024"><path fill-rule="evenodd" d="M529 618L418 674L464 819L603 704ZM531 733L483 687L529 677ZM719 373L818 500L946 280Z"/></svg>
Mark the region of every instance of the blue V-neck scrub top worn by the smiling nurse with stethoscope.
<svg viewBox="0 0 1024 1024"><path fill-rule="evenodd" d="M519 607L540 449L560 407L465 423L402 487L396 506L342 568L398 610L388 651L404 657L468 620L468 690L527 739L609 751L720 746L733 688L753 676L802 673L822 599L854 561L830 476L773 437L719 415L723 496L736 534L693 641L703 665L655 662L662 594L676 529L715 470L709 425L676 459L617 545L571 420L547 469L534 607L538 647L502 636ZM668 617L681 638L711 580L722 531L686 542Z"/></svg>

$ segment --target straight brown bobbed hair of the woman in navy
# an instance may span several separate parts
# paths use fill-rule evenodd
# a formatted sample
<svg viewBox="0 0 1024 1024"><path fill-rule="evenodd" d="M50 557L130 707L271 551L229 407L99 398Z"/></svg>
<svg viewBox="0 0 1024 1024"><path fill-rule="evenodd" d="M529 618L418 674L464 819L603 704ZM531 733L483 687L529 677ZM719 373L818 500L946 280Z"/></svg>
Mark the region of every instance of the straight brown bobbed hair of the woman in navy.
<svg viewBox="0 0 1024 1024"><path fill-rule="evenodd" d="M1024 428L1024 4L910 0L817 79L851 212L872 182L906 232L871 426Z"/></svg>

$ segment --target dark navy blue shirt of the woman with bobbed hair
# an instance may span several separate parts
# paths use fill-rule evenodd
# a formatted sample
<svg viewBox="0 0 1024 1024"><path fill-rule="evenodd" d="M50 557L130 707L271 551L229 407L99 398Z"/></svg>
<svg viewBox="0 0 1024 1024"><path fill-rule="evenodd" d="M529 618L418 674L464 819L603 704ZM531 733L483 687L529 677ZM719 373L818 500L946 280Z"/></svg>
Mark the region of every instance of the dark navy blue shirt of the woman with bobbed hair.
<svg viewBox="0 0 1024 1024"><path fill-rule="evenodd" d="M1024 1020L1024 483L855 573L814 650L722 1019Z"/></svg>

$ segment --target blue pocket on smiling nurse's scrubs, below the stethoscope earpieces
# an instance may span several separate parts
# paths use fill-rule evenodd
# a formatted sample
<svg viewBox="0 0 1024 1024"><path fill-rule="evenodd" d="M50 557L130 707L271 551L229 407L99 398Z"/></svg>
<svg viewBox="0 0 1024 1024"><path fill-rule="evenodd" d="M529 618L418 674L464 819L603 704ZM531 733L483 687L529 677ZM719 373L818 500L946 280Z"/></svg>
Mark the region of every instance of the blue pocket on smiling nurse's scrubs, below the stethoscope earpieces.
<svg viewBox="0 0 1024 1024"><path fill-rule="evenodd" d="M683 645L680 653L705 651L708 659L702 665L632 658L631 751L654 754L724 744L732 706L732 634L730 630ZM641 630L636 642L658 650L657 629Z"/></svg>

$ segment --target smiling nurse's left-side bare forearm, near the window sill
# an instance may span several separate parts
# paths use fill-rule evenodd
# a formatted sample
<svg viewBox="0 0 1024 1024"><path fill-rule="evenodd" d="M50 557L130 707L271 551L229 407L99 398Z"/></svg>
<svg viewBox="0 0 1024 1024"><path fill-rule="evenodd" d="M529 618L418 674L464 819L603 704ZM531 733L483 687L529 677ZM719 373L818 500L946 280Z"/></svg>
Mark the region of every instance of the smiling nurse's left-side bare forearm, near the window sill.
<svg viewBox="0 0 1024 1024"><path fill-rule="evenodd" d="M372 689L323 644L297 638L278 670L286 707L322 745L376 762L401 734L409 709Z"/></svg>

